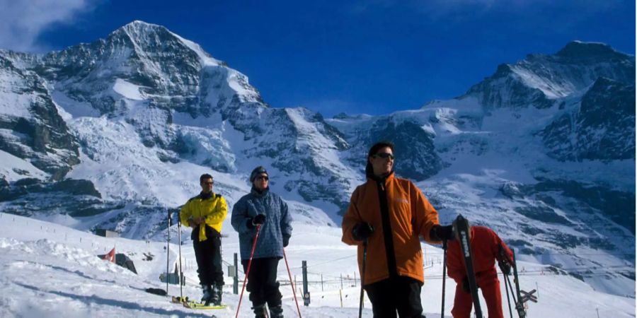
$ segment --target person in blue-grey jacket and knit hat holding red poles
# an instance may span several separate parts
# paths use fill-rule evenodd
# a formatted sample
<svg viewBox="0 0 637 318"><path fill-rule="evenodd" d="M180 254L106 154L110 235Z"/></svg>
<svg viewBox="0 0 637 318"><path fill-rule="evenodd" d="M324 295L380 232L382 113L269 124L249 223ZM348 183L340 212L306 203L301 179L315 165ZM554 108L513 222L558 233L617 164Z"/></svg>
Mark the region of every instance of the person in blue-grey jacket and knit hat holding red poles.
<svg viewBox="0 0 637 318"><path fill-rule="evenodd" d="M277 267L292 236L292 218L287 204L268 187L268 171L256 167L250 174L252 189L241 197L232 209L231 223L239 232L239 248L243 271L248 270L257 228L259 228L252 265L248 273L250 300L256 318L282 318L281 292L277 283Z"/></svg>

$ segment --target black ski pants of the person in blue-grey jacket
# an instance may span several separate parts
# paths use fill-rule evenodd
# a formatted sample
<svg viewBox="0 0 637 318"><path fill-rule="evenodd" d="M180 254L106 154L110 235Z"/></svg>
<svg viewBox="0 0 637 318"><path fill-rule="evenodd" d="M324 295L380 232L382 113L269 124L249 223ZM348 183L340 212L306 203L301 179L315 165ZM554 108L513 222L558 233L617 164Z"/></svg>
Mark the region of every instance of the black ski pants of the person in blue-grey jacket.
<svg viewBox="0 0 637 318"><path fill-rule="evenodd" d="M241 260L241 265L243 265L243 272L246 272L248 260ZM278 257L252 259L246 289L250 292L253 307L263 305L265 302L268 302L270 308L281 305L282 295L277 282L278 266Z"/></svg>

